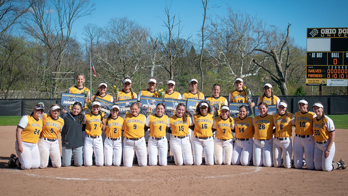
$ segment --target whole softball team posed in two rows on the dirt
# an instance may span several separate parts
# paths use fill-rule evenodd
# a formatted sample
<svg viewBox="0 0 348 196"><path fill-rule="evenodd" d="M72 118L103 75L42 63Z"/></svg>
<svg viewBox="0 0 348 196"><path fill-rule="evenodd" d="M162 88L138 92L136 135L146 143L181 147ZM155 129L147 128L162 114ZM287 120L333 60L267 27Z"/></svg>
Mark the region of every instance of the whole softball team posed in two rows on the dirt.
<svg viewBox="0 0 348 196"><path fill-rule="evenodd" d="M297 103L300 111L289 113L288 103L273 94L270 83L260 87L264 93L257 101L242 78L234 80L235 89L229 92L228 100L220 96L219 84L212 86L212 96L205 96L198 91L194 78L188 81L189 91L183 94L174 90L173 80L166 82L167 89L156 89L157 81L152 77L148 88L139 93L132 91L128 77L123 80L123 89L109 94L106 91L110 85L104 82L98 84L94 95L84 83L85 75L77 74L76 85L67 90L84 95L83 101L69 98L69 108L36 104L30 115L22 116L16 128L16 154L11 154L9 167L174 163L296 169L305 166L319 171L346 168L344 160L333 160L335 126L325 115L324 105L302 98ZM173 103L169 106L170 115L166 113L164 99L189 98L197 100L192 112L185 103L166 102ZM133 99L136 101L127 102ZM126 102L121 106L118 101ZM230 115L229 103L241 103L237 116ZM277 107L274 115L268 113L270 105ZM120 110L128 107L129 111L120 115ZM248 116L253 107L259 115Z"/></svg>

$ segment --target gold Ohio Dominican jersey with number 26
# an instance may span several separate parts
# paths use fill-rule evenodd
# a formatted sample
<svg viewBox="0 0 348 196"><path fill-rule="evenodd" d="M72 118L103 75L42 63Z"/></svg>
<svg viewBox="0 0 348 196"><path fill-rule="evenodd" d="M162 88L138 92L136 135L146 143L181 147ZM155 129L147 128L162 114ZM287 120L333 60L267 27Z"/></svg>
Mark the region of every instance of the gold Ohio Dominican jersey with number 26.
<svg viewBox="0 0 348 196"><path fill-rule="evenodd" d="M254 118L254 138L256 140L268 140L273 137L273 116L266 114L261 117L260 115Z"/></svg>

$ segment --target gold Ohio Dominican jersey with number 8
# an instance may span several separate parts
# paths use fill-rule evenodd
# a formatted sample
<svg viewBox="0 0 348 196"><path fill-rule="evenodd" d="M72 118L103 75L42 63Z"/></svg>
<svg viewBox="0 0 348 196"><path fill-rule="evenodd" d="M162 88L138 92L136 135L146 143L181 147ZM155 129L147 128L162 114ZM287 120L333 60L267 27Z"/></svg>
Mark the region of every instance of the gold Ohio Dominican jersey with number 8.
<svg viewBox="0 0 348 196"><path fill-rule="evenodd" d="M293 118L292 113L273 115L274 126L276 127L276 132L274 136L276 137L291 137L292 136L292 125L291 120Z"/></svg>

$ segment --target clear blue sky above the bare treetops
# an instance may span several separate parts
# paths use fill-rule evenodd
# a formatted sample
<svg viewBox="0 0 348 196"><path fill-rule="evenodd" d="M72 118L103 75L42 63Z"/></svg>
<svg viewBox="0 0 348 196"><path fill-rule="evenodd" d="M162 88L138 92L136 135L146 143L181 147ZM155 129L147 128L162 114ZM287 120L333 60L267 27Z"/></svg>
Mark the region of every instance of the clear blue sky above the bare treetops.
<svg viewBox="0 0 348 196"><path fill-rule="evenodd" d="M201 0L92 0L96 11L91 16L84 16L76 20L73 33L82 40L84 25L95 23L103 27L112 17L128 16L130 20L139 22L149 27L153 35L165 32L161 19L165 17L166 2L171 4L171 14L176 14L181 19L182 36L192 39L197 38L203 20L203 7ZM306 28L346 27L348 28L348 0L323 1L323 0L210 0L208 7L220 6L209 9L208 16L226 15L228 6L232 9L242 10L248 14L256 15L259 19L271 25L276 25L285 30L291 23L290 36L295 43L306 47Z"/></svg>

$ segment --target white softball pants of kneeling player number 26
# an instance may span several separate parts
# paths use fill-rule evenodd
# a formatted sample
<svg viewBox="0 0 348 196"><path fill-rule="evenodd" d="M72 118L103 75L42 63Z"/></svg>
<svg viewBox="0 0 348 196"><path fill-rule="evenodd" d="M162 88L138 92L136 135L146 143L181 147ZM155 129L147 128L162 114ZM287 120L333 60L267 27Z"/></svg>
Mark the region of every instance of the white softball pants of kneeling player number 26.
<svg viewBox="0 0 348 196"><path fill-rule="evenodd" d="M254 166L272 167L273 165L273 138L266 141L254 140L253 164Z"/></svg>

